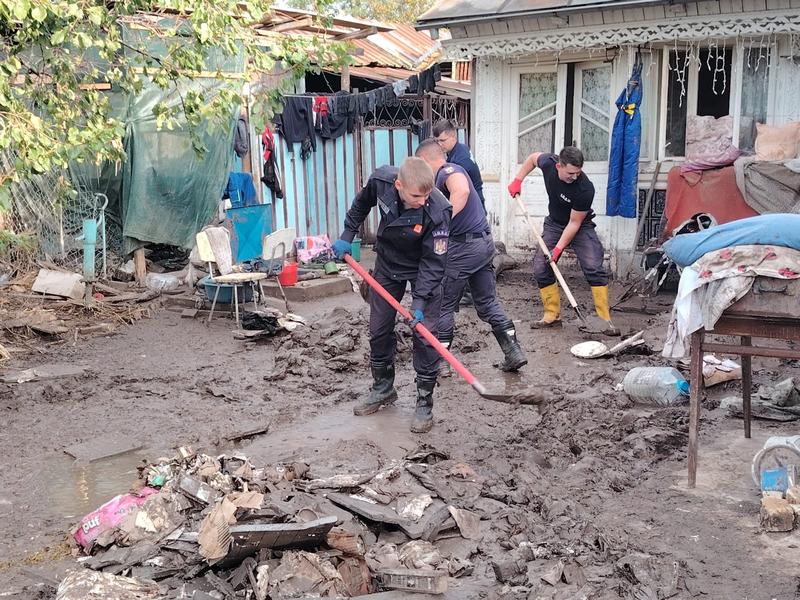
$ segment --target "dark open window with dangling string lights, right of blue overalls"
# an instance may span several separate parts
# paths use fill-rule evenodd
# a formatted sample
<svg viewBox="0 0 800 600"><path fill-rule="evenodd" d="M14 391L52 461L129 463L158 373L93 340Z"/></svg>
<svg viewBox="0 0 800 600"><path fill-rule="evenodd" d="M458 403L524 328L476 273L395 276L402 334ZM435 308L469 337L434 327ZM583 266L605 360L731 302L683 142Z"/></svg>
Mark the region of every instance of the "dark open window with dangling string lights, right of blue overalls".
<svg viewBox="0 0 800 600"><path fill-rule="evenodd" d="M689 115L724 117L731 113L733 50L721 46L665 48L664 155L686 154Z"/></svg>

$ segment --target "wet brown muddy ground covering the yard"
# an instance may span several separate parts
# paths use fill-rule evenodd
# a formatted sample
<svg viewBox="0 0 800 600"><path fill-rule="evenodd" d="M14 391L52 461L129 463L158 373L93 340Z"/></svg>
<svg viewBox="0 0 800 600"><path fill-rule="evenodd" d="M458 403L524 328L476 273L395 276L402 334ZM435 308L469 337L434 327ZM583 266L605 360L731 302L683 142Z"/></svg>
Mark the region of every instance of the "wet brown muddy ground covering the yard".
<svg viewBox="0 0 800 600"><path fill-rule="evenodd" d="M590 306L585 282L567 270L579 302ZM226 438L269 423L269 433L239 445L254 463L300 457L325 476L386 464L426 443L449 453L447 464L468 464L476 482L455 493L482 515L484 535L472 548L457 549L476 568L453 597L800 597L796 533L759 531L759 496L749 474L766 437L795 428L756 421L753 438L745 440L741 421L715 408L738 384L712 389L698 486L688 490L687 408L635 406L615 389L633 366L665 364L658 351L670 298L655 299L659 315L615 317L623 332L646 329L656 353L580 361L569 347L586 336L567 307L562 329L530 329L541 306L528 272L524 266L503 274L499 291L529 364L519 375L496 371L500 351L472 309L458 315L456 354L494 390L529 386L563 398L512 407L477 397L455 377L443 379L435 427L426 435L407 429L414 383L403 325L400 401L371 417L352 416L350 404L369 378L367 309L355 294L298 305L312 327L263 343L234 340L225 318L206 326L163 310L116 335L20 361L16 366L89 371L0 385L0 596L39 597L37 577L55 578L72 564L63 543L70 527L124 492L142 459L184 444L230 449ZM754 368L757 384L798 375L797 366L779 360L755 359ZM142 448L91 464L64 454L108 434ZM559 559L581 565L585 584L542 582ZM506 581L496 580L493 562Z"/></svg>

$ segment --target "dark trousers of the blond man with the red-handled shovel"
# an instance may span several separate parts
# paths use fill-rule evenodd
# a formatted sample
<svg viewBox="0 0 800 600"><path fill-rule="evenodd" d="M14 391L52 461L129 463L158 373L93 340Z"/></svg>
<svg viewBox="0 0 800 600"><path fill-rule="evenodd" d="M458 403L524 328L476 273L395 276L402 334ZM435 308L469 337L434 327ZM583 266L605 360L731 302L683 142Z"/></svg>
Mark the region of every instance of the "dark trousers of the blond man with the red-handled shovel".
<svg viewBox="0 0 800 600"><path fill-rule="evenodd" d="M403 299L408 283L411 284L412 293L414 291L414 280L393 279L381 268L376 268L372 276L398 302ZM437 288L433 297L425 303L425 307L422 309L422 313L425 315L422 323L433 335L437 334L436 325L441 307L441 289ZM381 298L377 292L370 290L369 347L370 360L372 362L383 364L394 363L394 355L397 348L397 336L394 331L396 321L397 311L395 311L386 300ZM416 331L414 331L413 340L413 363L417 375L435 377L439 372L439 354Z"/></svg>

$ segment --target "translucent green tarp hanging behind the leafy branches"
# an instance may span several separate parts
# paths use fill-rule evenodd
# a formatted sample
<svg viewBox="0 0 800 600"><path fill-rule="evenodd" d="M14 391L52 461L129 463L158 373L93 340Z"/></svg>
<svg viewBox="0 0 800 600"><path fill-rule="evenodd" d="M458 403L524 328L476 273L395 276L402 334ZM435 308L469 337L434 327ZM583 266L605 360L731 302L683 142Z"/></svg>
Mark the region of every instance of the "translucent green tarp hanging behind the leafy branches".
<svg viewBox="0 0 800 600"><path fill-rule="evenodd" d="M142 30L125 29L133 45L142 43ZM164 44L153 40L149 51L163 52ZM209 58L209 70L241 73L244 57ZM182 84L182 91L202 86L213 95L215 89L230 82L197 78ZM156 128L153 107L180 103L175 90L161 90L147 84L136 97L111 92L114 115L126 123L122 168L116 165L73 165L70 174L76 185L109 197L107 219L122 227L122 252L129 254L148 243L191 248L194 236L217 210L228 173L233 166L234 124L238 109L231 112L224 127L203 127L200 139L206 148L198 157L185 128L172 131Z"/></svg>

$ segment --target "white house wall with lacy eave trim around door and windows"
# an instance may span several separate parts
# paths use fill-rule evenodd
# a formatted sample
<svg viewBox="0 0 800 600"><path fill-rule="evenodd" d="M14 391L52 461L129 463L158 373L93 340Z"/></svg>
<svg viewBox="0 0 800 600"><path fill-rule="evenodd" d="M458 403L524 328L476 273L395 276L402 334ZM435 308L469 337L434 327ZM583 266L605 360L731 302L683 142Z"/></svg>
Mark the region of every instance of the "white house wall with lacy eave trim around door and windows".
<svg viewBox="0 0 800 600"><path fill-rule="evenodd" d="M737 14L741 12L782 10L800 8L800 0L717 0L713 2L694 2L686 5L666 5L626 11L596 11L584 14L570 15L567 18L547 17L539 19L513 19L495 21L466 28L453 28L451 33L457 42L459 37L468 41L472 37L483 40L497 36L511 36L525 32L537 32L545 35L558 29L575 27L592 28L608 25L610 23L643 22L652 19L672 19L686 17L697 19L709 15L713 20L714 15L726 13ZM798 12L798 11L795 11ZM705 34L703 34L705 36ZM770 65L770 100L767 122L781 124L789 121L800 120L800 35L766 35L767 41L777 44L777 52L773 55ZM694 41L696 44L708 44L707 37L698 36L692 40L691 33L681 40L681 44ZM736 38L720 37L720 44L729 42L736 45ZM649 148L643 147L643 160L640 162L639 188L647 189L650 186L656 168L656 161L663 160L660 175L656 180L656 189L665 189L667 173L672 166L680 164L680 160L665 159L663 151L663 112L664 89L663 78L666 70L661 69L660 60L663 58L664 44L652 44L644 50L652 52L657 63L654 68L646 69L646 79L656 81L654 87L645 88L644 109L653 109L651 113L651 128ZM671 47L671 45L670 45ZM613 103L620 90L625 86L633 64L633 54L636 48L623 46L612 61L612 84L609 103ZM613 52L612 52L613 56ZM740 58L741 54L735 56ZM473 152L484 178L484 194L487 200L487 209L492 221L495 235L504 241L509 248L515 250L530 250L535 246L530 227L519 214L516 203L508 197L506 186L514 178L518 164L516 159L516 106L518 102L518 89L516 78L520 69L531 66L542 66L548 63L577 62L581 60L603 60L604 51L570 51L565 50L558 54L536 53L514 56L513 58L497 58L494 56L477 56L475 60L474 88L473 88L473 116L474 135ZM741 86L741 78L737 76L736 64L729 85ZM648 83L646 82L647 86ZM734 88L731 95L731 114L738 112L739 89ZM610 108L613 118L616 109ZM735 117L738 122L738 117ZM661 125L661 126L659 126ZM559 145L557 143L557 145ZM606 217L606 185L607 162L602 165L588 166L587 174L593 181L596 196L593 208L597 213L596 223L598 234L609 254L612 268L620 272L627 272L634 258L634 237L636 220L621 217ZM535 170L529 175L523 187L523 201L526 209L532 216L537 227L547 214L547 197L544 190L541 173Z"/></svg>

